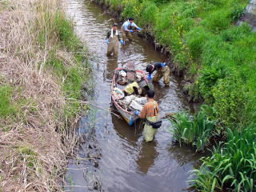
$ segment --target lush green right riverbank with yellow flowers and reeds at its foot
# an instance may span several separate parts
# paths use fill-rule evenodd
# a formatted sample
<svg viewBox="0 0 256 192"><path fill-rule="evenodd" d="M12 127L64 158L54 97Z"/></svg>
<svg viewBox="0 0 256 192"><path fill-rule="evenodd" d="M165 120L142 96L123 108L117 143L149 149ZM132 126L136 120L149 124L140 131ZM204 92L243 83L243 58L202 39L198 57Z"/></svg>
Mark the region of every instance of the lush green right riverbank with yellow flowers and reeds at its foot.
<svg viewBox="0 0 256 192"><path fill-rule="evenodd" d="M96 0L119 10L125 20L134 17L138 26L170 49L173 65L190 81L192 100L205 104L200 118L180 116L176 136L181 142L209 143L204 136L222 135L218 146L196 172L195 187L201 191L256 189L255 110L256 34L245 25L236 26L248 0ZM199 117L198 116L198 117ZM203 118L201 118L203 117ZM199 131L198 122L214 120L215 126ZM181 125L189 125L196 132ZM250 133L250 134L249 134ZM252 135L252 137L250 137ZM248 147L245 147L248 146Z"/></svg>

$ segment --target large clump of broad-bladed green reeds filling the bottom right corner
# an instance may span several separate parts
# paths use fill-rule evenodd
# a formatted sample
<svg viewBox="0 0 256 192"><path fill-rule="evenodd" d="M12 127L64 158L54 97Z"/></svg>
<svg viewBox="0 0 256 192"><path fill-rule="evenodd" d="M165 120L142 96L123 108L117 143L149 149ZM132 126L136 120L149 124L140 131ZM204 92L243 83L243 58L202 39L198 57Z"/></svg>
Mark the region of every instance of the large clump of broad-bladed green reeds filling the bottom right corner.
<svg viewBox="0 0 256 192"><path fill-rule="evenodd" d="M256 130L228 130L229 142L214 148L213 156L202 158L191 184L198 191L256 190Z"/></svg>

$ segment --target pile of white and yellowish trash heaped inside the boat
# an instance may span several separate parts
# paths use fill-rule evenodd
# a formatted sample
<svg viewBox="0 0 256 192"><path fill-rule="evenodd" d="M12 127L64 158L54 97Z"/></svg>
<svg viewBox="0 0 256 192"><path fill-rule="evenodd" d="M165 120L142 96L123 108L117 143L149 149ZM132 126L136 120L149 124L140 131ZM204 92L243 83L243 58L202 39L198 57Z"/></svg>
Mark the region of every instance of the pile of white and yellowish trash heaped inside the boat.
<svg viewBox="0 0 256 192"><path fill-rule="evenodd" d="M115 74L116 86L112 90L114 100L124 110L142 110L147 99L144 97L149 86L144 73L134 70L119 70Z"/></svg>

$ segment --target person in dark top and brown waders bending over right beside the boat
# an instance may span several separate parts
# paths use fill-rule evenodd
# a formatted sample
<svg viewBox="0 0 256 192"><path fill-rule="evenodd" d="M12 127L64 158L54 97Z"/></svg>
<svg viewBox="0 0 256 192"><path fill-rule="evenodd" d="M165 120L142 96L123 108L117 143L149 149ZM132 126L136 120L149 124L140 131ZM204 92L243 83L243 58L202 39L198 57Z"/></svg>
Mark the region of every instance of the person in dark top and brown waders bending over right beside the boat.
<svg viewBox="0 0 256 192"><path fill-rule="evenodd" d="M154 75L154 78L151 78L154 70L157 73ZM166 66L166 62L154 62L153 65L146 66L146 72L149 73L148 79L152 79L152 82L158 82L163 77L163 82L166 85L170 83L170 69L169 66Z"/></svg>

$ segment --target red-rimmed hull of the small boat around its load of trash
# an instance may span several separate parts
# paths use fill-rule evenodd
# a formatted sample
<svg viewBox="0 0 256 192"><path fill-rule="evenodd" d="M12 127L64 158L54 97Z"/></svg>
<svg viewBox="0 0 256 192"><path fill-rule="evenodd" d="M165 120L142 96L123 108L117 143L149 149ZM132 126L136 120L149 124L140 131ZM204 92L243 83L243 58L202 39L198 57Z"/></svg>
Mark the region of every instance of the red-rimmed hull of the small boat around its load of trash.
<svg viewBox="0 0 256 192"><path fill-rule="evenodd" d="M114 70L114 76L112 79L112 84L111 84L111 93L113 93L113 90L115 87L117 87L117 74L119 73L120 70L126 70L129 71L130 69L125 69L125 68L116 68ZM148 83L146 75L144 73L144 71L142 70L133 70L136 73L140 73L142 74L142 78L144 78L146 84ZM127 75L129 76L129 75ZM132 126L134 124L134 122L138 119L138 116L134 115L134 112L130 112L126 109L123 109L122 106L120 106L117 102L117 100L114 98L114 95L111 95L112 101L114 103L115 108L118 110L118 112L122 115L122 118L124 118L126 120L126 122L128 123L129 126Z"/></svg>

